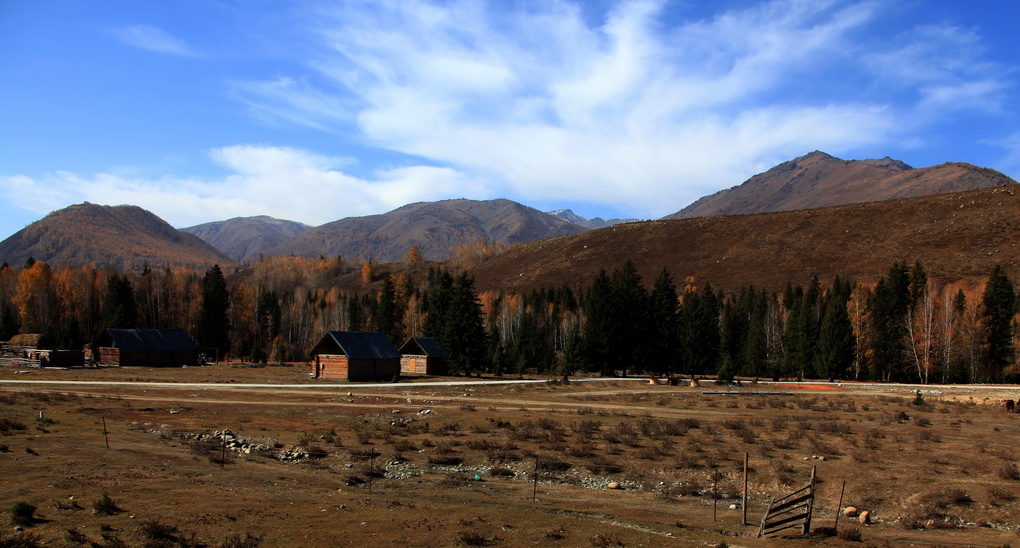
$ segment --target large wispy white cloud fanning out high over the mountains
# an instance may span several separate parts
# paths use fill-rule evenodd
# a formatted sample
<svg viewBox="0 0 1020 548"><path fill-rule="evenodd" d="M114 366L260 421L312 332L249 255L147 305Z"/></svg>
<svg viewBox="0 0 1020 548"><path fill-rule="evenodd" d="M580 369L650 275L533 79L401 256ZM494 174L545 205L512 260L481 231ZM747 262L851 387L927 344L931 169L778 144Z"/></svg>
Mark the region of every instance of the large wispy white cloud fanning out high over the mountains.
<svg viewBox="0 0 1020 548"><path fill-rule="evenodd" d="M525 5L324 8L307 65L328 84L251 83L246 100L295 123L355 120L367 143L511 198L583 193L656 216L792 155L906 140L918 109L990 103L1002 86L959 29L862 40L880 2L780 0L670 20L663 2L632 1L598 24L575 4ZM889 77L872 62L909 67L892 79L910 102L881 89Z"/></svg>

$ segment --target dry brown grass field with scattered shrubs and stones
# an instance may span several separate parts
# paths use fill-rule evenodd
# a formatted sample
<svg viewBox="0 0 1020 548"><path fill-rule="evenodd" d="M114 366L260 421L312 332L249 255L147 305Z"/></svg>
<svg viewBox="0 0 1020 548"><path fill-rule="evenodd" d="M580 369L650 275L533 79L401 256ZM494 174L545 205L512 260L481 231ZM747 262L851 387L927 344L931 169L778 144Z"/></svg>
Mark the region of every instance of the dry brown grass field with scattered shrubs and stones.
<svg viewBox="0 0 1020 548"><path fill-rule="evenodd" d="M222 384L7 383L30 379ZM1020 415L1000 389L337 388L297 365L0 381L2 546L1020 544ZM816 532L757 539L812 466ZM833 532L844 482L872 524Z"/></svg>

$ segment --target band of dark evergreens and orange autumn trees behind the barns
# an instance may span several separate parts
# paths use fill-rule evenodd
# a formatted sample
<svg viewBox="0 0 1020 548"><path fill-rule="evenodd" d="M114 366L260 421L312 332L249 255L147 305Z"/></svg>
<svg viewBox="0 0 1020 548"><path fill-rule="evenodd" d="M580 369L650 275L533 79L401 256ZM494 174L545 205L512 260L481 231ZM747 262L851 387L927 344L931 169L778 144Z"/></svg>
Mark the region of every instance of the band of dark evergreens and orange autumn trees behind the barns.
<svg viewBox="0 0 1020 548"><path fill-rule="evenodd" d="M420 259L417 261L420 262ZM588 286L523 294L474 289L434 264L377 273L343 259L260 257L224 273L30 259L0 266L0 340L39 333L81 348L107 328L181 328L211 359L295 362L326 331L440 340L455 375L686 375L721 380L1017 382L1018 304L999 266L939 283L895 263L874 283L814 278L782 292L724 292L667 269L646 283L627 260ZM352 270L370 291L342 291Z"/></svg>

